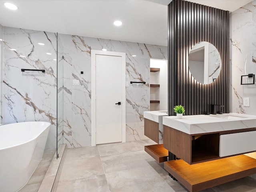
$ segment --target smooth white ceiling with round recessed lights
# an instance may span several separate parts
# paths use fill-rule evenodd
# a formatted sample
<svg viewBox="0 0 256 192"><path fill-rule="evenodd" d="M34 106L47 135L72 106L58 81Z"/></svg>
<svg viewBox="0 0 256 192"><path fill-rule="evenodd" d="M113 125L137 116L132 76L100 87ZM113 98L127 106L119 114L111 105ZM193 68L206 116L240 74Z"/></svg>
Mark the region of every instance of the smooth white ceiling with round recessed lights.
<svg viewBox="0 0 256 192"><path fill-rule="evenodd" d="M230 12L252 0L188 0ZM4 2L18 6L12 11ZM0 0L0 24L167 46L171 0ZM121 20L122 26L114 26Z"/></svg>

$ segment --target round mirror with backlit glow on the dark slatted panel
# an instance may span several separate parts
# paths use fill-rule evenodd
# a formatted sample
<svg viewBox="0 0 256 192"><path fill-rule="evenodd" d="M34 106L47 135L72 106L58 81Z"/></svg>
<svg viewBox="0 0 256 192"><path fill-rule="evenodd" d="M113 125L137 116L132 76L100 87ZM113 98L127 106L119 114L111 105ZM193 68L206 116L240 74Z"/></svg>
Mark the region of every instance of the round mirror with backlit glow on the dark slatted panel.
<svg viewBox="0 0 256 192"><path fill-rule="evenodd" d="M212 83L220 74L221 58L217 48L206 41L195 44L188 56L188 68L195 80Z"/></svg>

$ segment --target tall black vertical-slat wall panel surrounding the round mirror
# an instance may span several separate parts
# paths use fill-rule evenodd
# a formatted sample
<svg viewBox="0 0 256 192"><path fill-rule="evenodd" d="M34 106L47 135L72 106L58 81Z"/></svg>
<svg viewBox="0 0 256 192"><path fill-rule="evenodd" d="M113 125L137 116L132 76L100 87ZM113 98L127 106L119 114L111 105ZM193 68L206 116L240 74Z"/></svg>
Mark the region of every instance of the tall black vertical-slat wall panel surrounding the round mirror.
<svg viewBox="0 0 256 192"><path fill-rule="evenodd" d="M168 5L168 111L183 105L186 115L210 112L210 105L229 112L229 12L183 0ZM218 78L210 84L197 82L188 69L188 54L201 41L213 44L222 65Z"/></svg>

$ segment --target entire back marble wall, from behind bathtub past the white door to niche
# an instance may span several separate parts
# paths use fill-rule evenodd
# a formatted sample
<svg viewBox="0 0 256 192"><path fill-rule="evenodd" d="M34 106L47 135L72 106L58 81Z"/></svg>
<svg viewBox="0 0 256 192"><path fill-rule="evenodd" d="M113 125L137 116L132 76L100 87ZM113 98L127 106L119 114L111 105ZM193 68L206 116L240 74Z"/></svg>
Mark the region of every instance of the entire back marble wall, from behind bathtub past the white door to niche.
<svg viewBox="0 0 256 192"><path fill-rule="evenodd" d="M46 148L56 148L56 139L69 148L90 146L90 50L103 47L126 53L127 81L146 82L126 88L126 141L146 139L143 112L149 110L150 58L167 59L167 47L58 34L56 58L57 34L10 27L4 27L3 123L48 121L52 125ZM132 57L134 54L137 56ZM53 59L58 59L58 79ZM21 72L21 68L45 69L46 73ZM79 80L79 86L72 85L74 79Z"/></svg>

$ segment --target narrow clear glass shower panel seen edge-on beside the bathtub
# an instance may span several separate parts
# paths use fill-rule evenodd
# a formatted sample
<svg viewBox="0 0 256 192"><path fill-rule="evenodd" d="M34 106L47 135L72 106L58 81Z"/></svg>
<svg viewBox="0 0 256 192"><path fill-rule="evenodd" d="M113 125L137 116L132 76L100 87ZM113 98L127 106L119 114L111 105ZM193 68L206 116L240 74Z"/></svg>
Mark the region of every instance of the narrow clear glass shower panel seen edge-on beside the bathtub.
<svg viewBox="0 0 256 192"><path fill-rule="evenodd" d="M63 144L63 45L57 33L57 158Z"/></svg>

